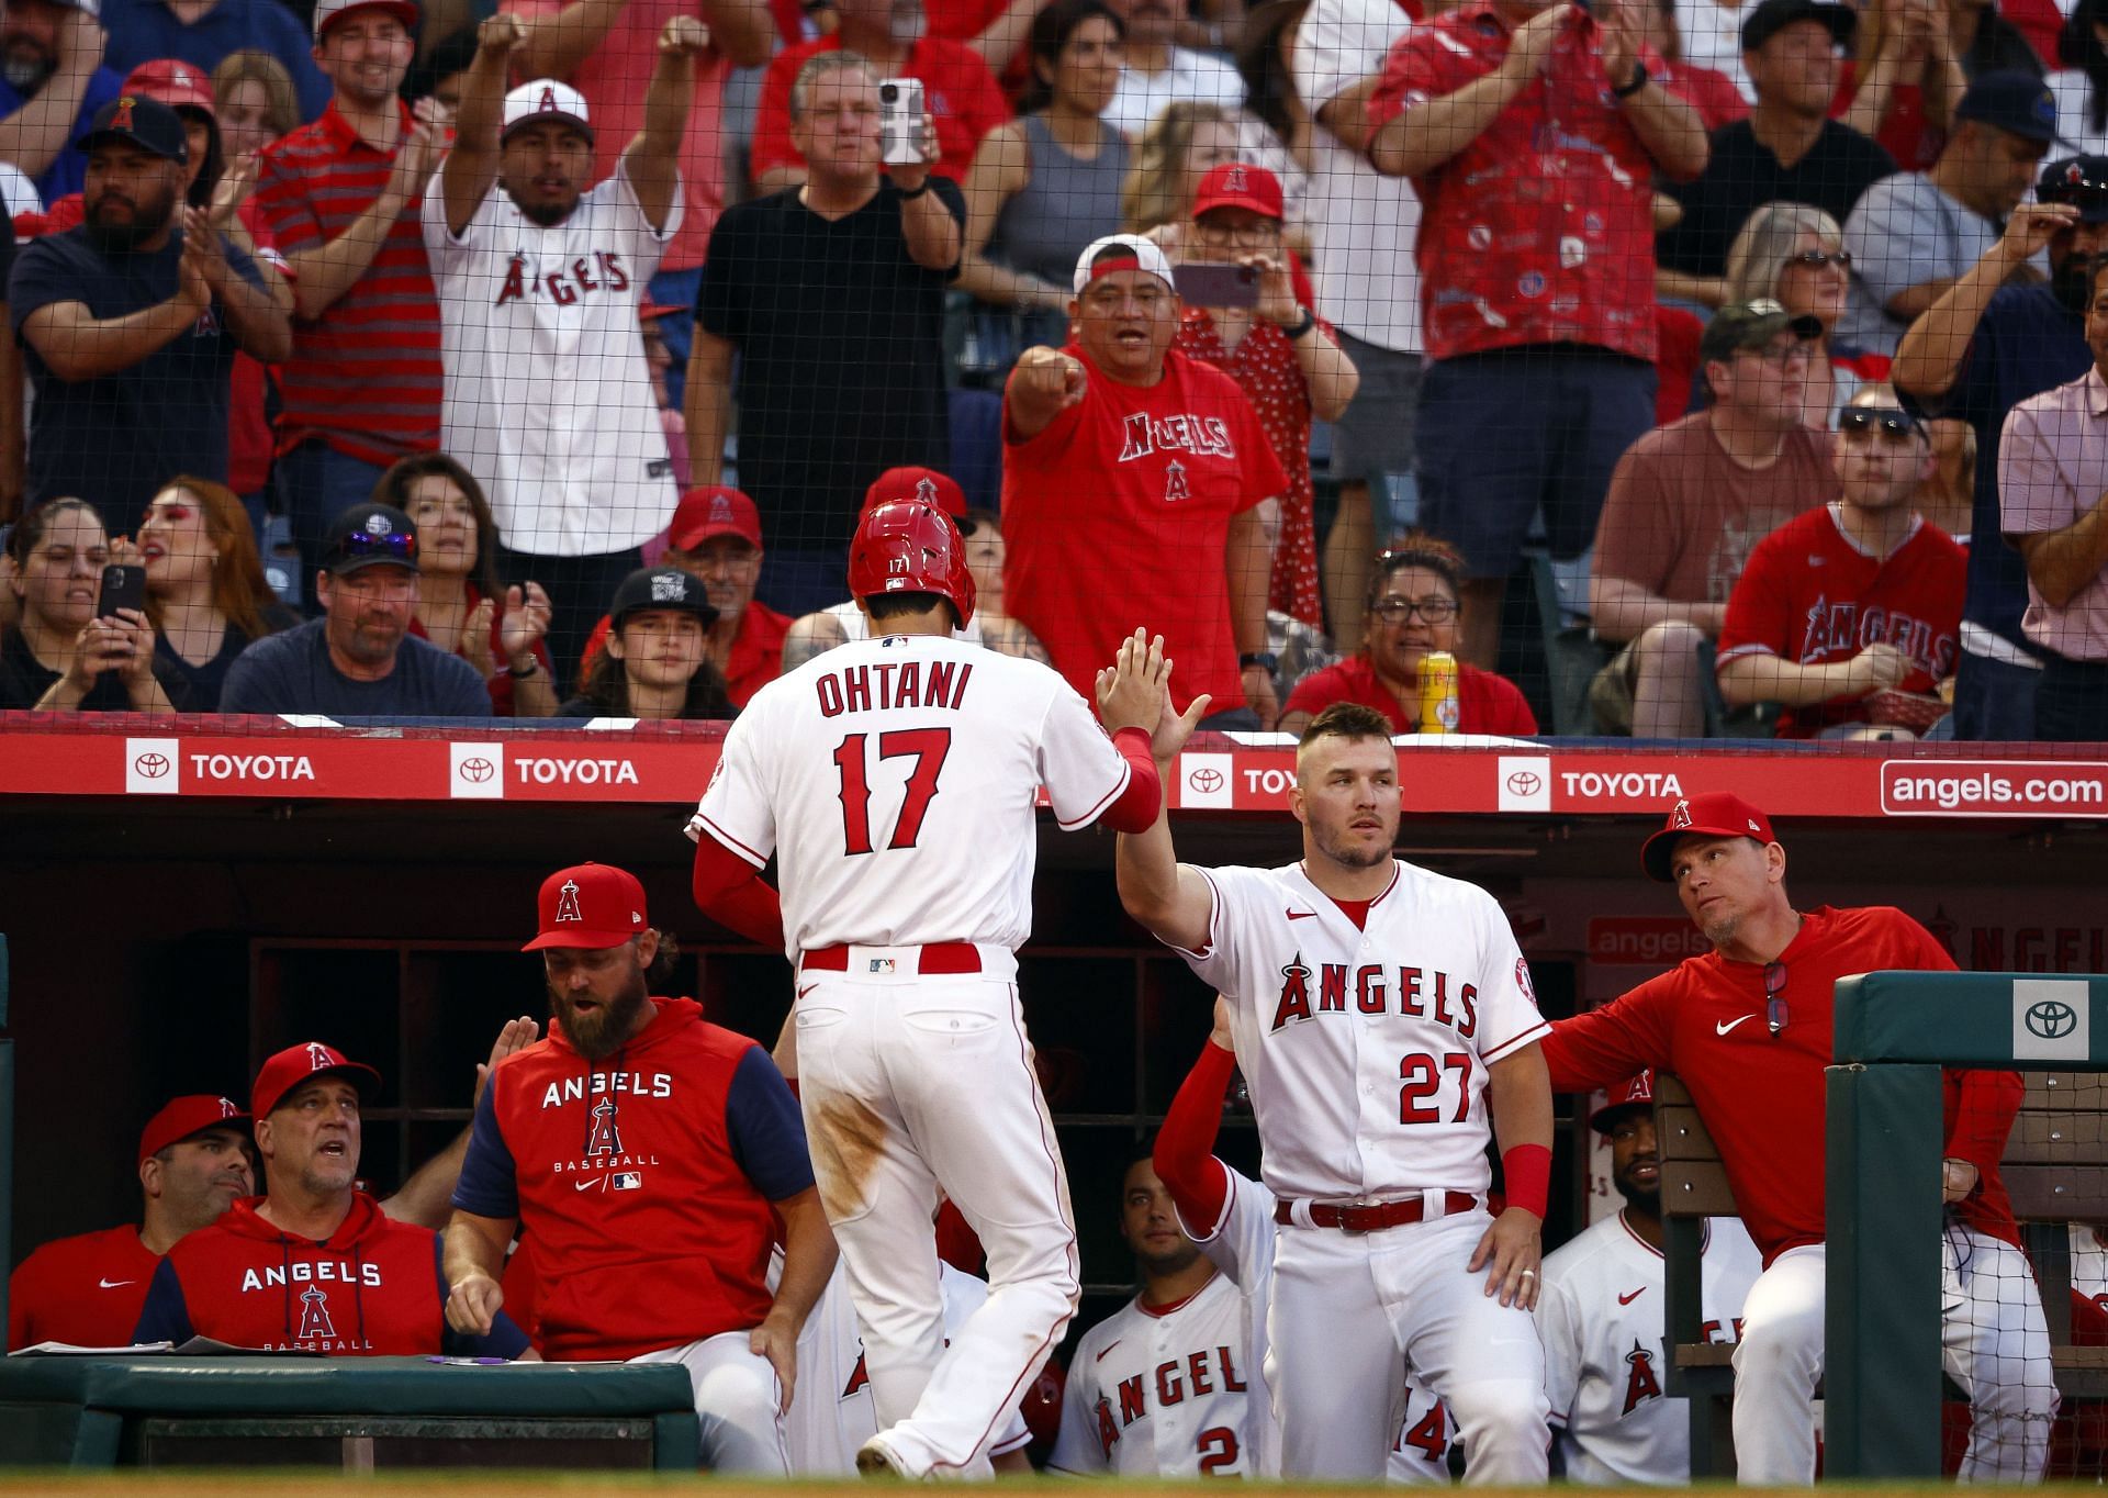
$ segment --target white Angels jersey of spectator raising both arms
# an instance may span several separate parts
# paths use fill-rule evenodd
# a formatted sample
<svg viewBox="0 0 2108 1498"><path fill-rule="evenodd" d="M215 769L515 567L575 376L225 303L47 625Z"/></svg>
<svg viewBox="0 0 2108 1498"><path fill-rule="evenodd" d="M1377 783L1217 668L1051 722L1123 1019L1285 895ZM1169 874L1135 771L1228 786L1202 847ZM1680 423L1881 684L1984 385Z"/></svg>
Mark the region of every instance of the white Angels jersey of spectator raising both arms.
<svg viewBox="0 0 2108 1498"><path fill-rule="evenodd" d="M424 194L447 395L441 447L476 475L506 546L582 557L639 546L679 492L651 395L645 283L681 226L653 230L628 167L542 228L491 186L462 234L443 175Z"/></svg>

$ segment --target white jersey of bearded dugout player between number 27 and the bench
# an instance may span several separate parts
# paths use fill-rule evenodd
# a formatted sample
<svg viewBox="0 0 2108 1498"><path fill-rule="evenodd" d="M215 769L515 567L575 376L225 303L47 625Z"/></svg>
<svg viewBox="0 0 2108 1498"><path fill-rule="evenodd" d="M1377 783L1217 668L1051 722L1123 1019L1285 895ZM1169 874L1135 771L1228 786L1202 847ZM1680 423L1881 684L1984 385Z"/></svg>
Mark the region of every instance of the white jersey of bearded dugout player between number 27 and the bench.
<svg viewBox="0 0 2108 1498"><path fill-rule="evenodd" d="M1699 1293L1707 1342L1741 1340L1741 1302L1762 1272L1741 1217L1705 1224ZM1568 1481L1689 1483L1691 1411L1663 1395L1661 1253L1617 1213L1547 1253L1543 1276L1537 1327Z"/></svg>

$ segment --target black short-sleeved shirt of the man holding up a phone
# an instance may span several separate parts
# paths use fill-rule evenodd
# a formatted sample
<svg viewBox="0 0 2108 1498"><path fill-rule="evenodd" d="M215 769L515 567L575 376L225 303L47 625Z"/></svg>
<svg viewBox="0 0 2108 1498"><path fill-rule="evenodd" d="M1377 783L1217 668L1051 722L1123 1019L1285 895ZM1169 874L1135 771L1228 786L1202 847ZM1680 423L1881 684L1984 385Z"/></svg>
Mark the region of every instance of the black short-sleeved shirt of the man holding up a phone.
<svg viewBox="0 0 2108 1498"><path fill-rule="evenodd" d="M955 184L930 177L930 190L965 222ZM949 464L953 274L909 257L892 186L833 222L797 188L717 219L696 323L738 344L740 487L767 517L772 549L843 546L873 479Z"/></svg>

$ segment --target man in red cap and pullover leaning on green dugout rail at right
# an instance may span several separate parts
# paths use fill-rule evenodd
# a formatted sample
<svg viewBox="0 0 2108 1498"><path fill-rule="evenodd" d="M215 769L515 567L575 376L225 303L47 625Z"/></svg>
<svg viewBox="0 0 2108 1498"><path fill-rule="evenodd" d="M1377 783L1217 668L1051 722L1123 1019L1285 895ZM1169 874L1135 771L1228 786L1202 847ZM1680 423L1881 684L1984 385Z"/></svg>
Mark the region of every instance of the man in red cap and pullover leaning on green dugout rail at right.
<svg viewBox="0 0 2108 1498"><path fill-rule="evenodd" d="M1735 1348L1735 1462L1750 1485L1815 1481L1823 1376L1823 1068L1832 985L1876 968L1954 971L1899 909L1794 909L1771 819L1716 791L1676 804L1640 850L1714 949L1543 1042L1554 1091L1640 1068L1691 1089L1741 1219L1764 1253ZM2034 1481L2057 1409L2049 1331L1998 1179L2019 1110L2015 1072L1946 1074L1946 1371L1971 1403L1965 1481Z"/></svg>

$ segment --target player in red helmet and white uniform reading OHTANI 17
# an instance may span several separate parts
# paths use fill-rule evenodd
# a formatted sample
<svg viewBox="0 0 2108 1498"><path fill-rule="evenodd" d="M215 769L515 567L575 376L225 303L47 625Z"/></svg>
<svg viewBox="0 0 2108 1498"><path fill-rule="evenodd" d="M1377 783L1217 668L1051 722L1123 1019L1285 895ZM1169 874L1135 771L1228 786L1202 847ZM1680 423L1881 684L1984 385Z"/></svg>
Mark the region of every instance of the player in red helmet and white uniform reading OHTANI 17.
<svg viewBox="0 0 2108 1498"><path fill-rule="evenodd" d="M925 504L864 515L850 591L875 637L778 677L734 722L689 823L694 884L704 911L734 907L780 859L805 1131L879 1418L858 1466L984 1475L1079 1291L1016 990L1035 793L1062 827L1145 827L1159 783L1143 724L1162 715L1166 662L1124 644L1098 679L1100 728L1052 669L951 639L974 580L959 527ZM938 1182L993 1285L949 1348Z"/></svg>

